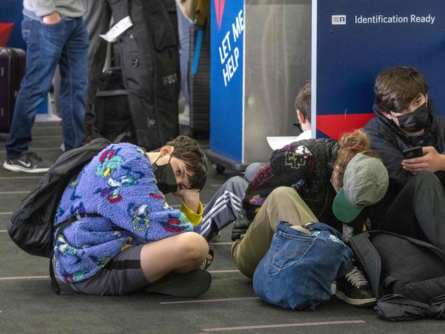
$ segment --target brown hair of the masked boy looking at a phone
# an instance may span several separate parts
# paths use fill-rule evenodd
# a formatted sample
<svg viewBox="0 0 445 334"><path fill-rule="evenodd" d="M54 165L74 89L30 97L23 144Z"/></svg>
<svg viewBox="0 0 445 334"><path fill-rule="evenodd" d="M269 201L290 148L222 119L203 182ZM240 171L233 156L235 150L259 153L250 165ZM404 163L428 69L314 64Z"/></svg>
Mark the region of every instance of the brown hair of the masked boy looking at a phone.
<svg viewBox="0 0 445 334"><path fill-rule="evenodd" d="M413 67L392 67L376 77L376 104L383 112L406 109L419 94L428 93L426 80Z"/></svg>

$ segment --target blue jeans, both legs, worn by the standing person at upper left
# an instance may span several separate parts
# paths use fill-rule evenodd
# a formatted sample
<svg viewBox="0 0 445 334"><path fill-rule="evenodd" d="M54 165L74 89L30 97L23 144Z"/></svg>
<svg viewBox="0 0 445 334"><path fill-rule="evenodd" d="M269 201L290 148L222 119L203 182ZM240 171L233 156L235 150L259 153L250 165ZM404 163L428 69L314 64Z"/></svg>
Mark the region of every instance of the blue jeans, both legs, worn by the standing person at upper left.
<svg viewBox="0 0 445 334"><path fill-rule="evenodd" d="M55 25L45 25L25 16L22 35L27 44L26 74L6 142L7 158L18 158L28 150L37 106L51 87L57 64L62 77L60 115L65 149L79 147L85 136L84 98L88 79L88 34L82 18L62 19Z"/></svg>

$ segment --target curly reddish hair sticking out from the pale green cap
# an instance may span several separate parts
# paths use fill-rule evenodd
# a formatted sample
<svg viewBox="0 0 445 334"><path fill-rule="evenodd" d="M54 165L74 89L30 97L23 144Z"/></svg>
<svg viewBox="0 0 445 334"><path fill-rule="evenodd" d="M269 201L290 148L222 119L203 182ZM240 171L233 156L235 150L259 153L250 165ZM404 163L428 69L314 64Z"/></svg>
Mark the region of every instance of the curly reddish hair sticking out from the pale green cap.
<svg viewBox="0 0 445 334"><path fill-rule="evenodd" d="M340 138L340 148L337 151L337 159L334 166L338 166L334 182L337 187L343 187L343 176L346 166L357 153L365 154L365 156L377 157L377 154L370 150L370 139L361 129L352 132L346 132Z"/></svg>

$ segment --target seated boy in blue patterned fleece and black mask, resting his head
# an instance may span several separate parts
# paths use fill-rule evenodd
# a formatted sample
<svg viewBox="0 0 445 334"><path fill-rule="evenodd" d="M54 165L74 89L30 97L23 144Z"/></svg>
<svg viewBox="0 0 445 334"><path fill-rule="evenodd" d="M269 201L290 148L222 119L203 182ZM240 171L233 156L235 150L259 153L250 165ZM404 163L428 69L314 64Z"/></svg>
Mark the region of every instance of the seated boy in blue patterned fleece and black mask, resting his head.
<svg viewBox="0 0 445 334"><path fill-rule="evenodd" d="M201 221L207 169L201 147L187 136L158 152L129 143L102 150L69 182L56 211L54 224L84 217L56 231L60 281L86 294L121 295L142 288L175 296L204 293L211 277L198 269L208 244L193 226ZM181 210L165 202L170 192L182 198Z"/></svg>

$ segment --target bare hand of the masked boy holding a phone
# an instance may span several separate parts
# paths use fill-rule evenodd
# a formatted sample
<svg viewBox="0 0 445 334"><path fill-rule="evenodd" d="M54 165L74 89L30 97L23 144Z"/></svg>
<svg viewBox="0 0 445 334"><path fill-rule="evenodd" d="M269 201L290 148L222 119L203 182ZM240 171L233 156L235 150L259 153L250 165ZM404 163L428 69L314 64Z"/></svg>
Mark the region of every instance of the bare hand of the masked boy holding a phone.
<svg viewBox="0 0 445 334"><path fill-rule="evenodd" d="M418 158L405 159L402 161L403 169L411 174L418 174L419 171L445 170L445 156L438 154L433 146L422 147L424 156Z"/></svg>

